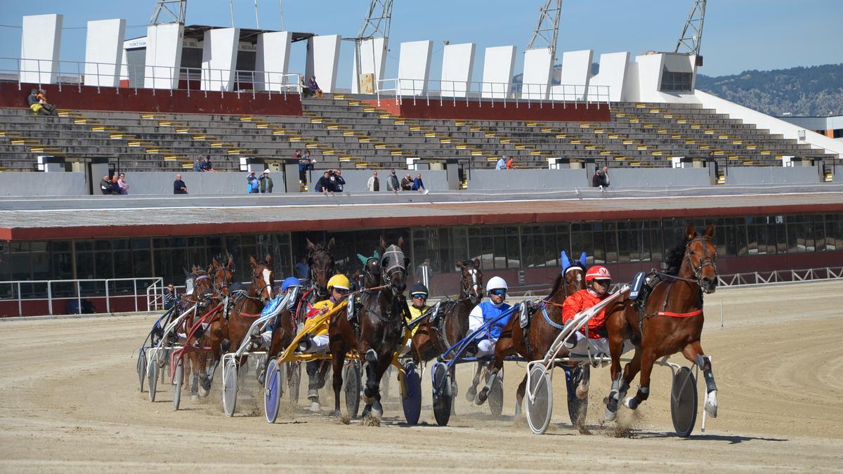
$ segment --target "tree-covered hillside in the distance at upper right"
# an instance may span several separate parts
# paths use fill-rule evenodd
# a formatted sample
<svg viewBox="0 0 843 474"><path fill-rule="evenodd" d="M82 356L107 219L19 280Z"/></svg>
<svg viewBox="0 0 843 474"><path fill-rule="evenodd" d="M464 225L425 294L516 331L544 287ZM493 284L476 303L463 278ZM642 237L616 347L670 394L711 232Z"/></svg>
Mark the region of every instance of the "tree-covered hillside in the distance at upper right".
<svg viewBox="0 0 843 474"><path fill-rule="evenodd" d="M843 114L843 64L744 71L732 76L699 74L696 89L771 116Z"/></svg>

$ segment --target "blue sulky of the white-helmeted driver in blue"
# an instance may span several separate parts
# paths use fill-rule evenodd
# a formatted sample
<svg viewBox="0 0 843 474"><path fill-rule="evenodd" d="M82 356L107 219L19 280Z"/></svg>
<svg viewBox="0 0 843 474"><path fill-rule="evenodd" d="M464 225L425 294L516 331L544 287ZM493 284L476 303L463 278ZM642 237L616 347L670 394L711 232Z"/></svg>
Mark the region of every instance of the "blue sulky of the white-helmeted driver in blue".
<svg viewBox="0 0 843 474"><path fill-rule="evenodd" d="M436 423L440 426L448 424L454 403L454 367L456 364L476 362L486 364L492 360L492 356L486 357L464 357L466 350L471 347L477 337L489 328L502 320L506 320L513 313L520 310L521 304L513 304L511 308L492 320L484 321L482 326L472 331L468 336L455 343L437 358L436 364L431 369L431 380L433 385L433 415ZM506 360L523 361L523 358L511 357ZM499 413L498 413L499 414Z"/></svg>

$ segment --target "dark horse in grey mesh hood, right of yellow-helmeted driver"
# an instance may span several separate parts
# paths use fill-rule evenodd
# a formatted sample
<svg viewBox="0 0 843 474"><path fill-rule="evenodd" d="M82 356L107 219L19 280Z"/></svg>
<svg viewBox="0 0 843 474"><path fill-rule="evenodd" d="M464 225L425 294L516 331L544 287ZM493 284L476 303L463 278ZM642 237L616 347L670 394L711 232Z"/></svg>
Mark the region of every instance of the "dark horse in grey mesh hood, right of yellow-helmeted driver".
<svg viewBox="0 0 843 474"><path fill-rule="evenodd" d="M380 259L381 286L362 289L360 310L356 317L347 317L347 310L341 311L330 320L330 355L334 368L334 411L340 412L340 391L342 390L342 366L346 353L354 349L366 364L366 386L363 397L366 406L362 416L383 415L380 404L380 380L395 353L404 341L405 315L408 314L404 299L406 288L406 267L410 259L404 256L401 246L386 246Z"/></svg>

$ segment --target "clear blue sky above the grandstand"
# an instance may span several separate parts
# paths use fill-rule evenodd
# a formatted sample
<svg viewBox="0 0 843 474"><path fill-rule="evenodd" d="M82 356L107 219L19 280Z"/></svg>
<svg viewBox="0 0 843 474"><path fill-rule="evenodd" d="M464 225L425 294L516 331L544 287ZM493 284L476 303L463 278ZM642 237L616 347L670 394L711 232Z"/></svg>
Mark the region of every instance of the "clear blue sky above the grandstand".
<svg viewBox="0 0 843 474"><path fill-rule="evenodd" d="M368 0L282 0L287 30L319 35L357 35ZM443 40L476 43L475 78L483 50L515 45L521 54L539 18L542 0L395 0L389 39L387 78L398 69L402 41L433 40L431 78L438 78ZM673 51L691 0L564 0L558 51ZM0 57L20 56L21 17L62 13L61 58L84 61L88 20L125 18L126 37L146 34L154 0L0 0ZM258 0L260 27L281 28L278 0ZM254 0L234 0L235 25L255 28ZM187 24L230 26L228 0L190 0ZM13 27L8 27L11 25ZM700 72L717 76L748 69L777 69L843 62L843 0L711 0L706 8ZM351 83L353 46L343 42L337 84ZM557 53L561 59L561 53ZM2 60L0 60L2 61ZM2 61L3 68L8 61ZM291 69L303 72L303 45L293 46Z"/></svg>

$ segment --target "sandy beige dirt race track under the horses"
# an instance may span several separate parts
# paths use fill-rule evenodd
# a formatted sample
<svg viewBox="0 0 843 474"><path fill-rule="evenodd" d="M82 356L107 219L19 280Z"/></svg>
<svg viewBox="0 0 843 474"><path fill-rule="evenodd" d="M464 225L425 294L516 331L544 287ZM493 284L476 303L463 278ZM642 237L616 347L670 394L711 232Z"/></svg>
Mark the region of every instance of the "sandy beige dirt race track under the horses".
<svg viewBox="0 0 843 474"><path fill-rule="evenodd" d="M702 342L713 357L720 411L706 433L698 418L690 439L673 435L665 368L654 369L650 399L636 413L622 409L628 431L601 423L604 368L592 372L590 435L568 423L562 377L548 434L531 434L511 417L524 374L514 364L502 419L460 393L457 415L438 427L426 371L419 426L403 424L395 382L379 427L289 404L270 425L251 373L233 418L223 414L219 378L207 398L183 396L178 412L169 385L159 384L150 403L138 391L135 353L152 316L2 320L0 471L841 471L840 297L843 281L707 297ZM470 369L459 371L460 391ZM332 407L332 396L323 403Z"/></svg>

